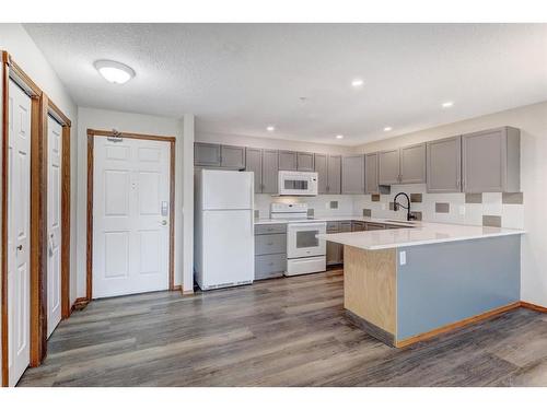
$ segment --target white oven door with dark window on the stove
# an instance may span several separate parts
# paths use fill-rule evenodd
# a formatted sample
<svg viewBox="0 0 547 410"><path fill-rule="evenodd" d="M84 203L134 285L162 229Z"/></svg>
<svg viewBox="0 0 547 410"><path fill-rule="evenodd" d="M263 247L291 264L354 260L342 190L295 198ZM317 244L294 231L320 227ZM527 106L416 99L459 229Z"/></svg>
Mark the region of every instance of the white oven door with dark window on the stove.
<svg viewBox="0 0 547 410"><path fill-rule="evenodd" d="M325 255L324 239L318 239L318 234L327 230L325 222L290 223L287 231L288 258L305 258Z"/></svg>

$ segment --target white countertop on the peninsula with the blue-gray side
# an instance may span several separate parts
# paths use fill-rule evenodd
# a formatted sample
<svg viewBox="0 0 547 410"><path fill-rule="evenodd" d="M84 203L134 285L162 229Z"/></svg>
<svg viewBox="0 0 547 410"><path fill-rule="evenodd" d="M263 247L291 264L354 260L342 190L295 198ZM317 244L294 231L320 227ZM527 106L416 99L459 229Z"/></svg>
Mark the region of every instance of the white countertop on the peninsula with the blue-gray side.
<svg viewBox="0 0 547 410"><path fill-rule="evenodd" d="M334 219L340 221L340 219ZM359 220L359 219L356 219ZM369 222L387 222L386 220L362 219ZM384 222L382 222L384 221ZM405 221L403 221L405 222ZM504 227L456 225L445 223L418 222L415 227L403 227L398 230L381 230L365 232L346 232L338 234L322 234L321 239L335 242L342 245L354 246L361 249L375 250L397 248L404 246L416 246L438 244L442 242L480 239L494 236L521 235L523 230L510 230Z"/></svg>

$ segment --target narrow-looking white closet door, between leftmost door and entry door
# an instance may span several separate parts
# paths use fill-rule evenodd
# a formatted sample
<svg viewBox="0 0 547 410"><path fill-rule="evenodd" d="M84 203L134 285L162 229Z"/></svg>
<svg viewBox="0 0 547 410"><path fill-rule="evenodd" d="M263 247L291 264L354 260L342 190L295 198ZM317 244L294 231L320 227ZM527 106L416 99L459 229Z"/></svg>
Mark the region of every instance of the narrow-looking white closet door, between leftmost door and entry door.
<svg viewBox="0 0 547 410"><path fill-rule="evenodd" d="M61 144L62 127L47 119L47 337L61 321Z"/></svg>

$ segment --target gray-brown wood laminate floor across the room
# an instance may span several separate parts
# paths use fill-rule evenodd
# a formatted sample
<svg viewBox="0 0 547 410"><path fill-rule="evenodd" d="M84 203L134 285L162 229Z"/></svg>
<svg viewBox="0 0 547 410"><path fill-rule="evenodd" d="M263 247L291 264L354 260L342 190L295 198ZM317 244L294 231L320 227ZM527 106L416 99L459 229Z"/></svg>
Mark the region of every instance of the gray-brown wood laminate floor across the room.
<svg viewBox="0 0 547 410"><path fill-rule="evenodd" d="M519 308L397 350L344 315L340 271L95 301L20 386L547 386L547 315Z"/></svg>

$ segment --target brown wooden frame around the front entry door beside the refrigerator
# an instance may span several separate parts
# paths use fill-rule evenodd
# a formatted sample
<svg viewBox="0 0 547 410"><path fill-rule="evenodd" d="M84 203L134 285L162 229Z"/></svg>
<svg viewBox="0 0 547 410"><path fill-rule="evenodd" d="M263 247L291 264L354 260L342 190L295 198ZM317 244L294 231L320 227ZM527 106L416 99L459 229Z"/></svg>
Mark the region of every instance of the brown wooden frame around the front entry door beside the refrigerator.
<svg viewBox="0 0 547 410"><path fill-rule="evenodd" d="M93 297L93 172L94 172L94 138L120 137L136 140L162 141L170 143L170 261L168 290L175 286L175 137L152 136L133 132L116 132L88 129L88 241L86 241L86 289L85 297L77 300L77 307L84 307Z"/></svg>

